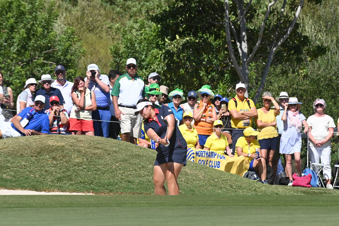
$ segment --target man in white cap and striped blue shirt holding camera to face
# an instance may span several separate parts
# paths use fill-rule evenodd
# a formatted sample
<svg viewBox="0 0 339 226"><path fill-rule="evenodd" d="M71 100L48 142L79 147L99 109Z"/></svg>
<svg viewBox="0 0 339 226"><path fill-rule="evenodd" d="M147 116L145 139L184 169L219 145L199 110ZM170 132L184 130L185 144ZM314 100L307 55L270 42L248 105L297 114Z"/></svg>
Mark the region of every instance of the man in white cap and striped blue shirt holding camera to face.
<svg viewBox="0 0 339 226"><path fill-rule="evenodd" d="M100 75L98 65L89 64L87 66L85 87L94 91L97 102L97 110L92 111L94 135L108 138L109 121L111 120L109 79L107 75Z"/></svg>

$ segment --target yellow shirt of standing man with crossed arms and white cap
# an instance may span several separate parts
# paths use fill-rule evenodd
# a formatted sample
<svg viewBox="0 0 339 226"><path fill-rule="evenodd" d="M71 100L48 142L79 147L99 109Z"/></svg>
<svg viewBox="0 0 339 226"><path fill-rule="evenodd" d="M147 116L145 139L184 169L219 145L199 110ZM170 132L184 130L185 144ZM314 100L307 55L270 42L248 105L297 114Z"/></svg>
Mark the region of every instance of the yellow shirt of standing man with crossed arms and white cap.
<svg viewBox="0 0 339 226"><path fill-rule="evenodd" d="M236 109L237 111L250 111L251 110L251 107L255 107L254 105L254 102L251 100L251 99L248 99L250 100L250 106L248 106L247 104L247 101L246 101L246 98L244 99L244 101L241 101L239 100L238 96L235 96L235 99L237 101L237 108L235 107L235 102L234 100L230 100L228 102L228 110L231 111L233 109ZM248 119L247 119L248 120ZM248 126L243 126L243 121L247 121L247 120L240 120L240 119L234 119L231 115L231 126L233 128L238 128L238 129L244 129L244 128L247 128L247 127L250 127L252 126L252 120L253 119L250 119L250 125Z"/></svg>

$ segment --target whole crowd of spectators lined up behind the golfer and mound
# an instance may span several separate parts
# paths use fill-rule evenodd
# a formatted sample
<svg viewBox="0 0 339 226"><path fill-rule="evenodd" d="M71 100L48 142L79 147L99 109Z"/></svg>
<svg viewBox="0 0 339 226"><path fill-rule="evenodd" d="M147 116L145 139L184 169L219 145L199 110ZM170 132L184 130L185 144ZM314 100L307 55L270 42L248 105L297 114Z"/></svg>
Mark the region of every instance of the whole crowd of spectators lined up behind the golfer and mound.
<svg viewBox="0 0 339 226"><path fill-rule="evenodd" d="M153 115L159 112L154 109L162 106L173 112L187 149L215 151L230 158L243 156L264 184L268 165L275 177L281 154L290 178L288 185L293 183L292 157L301 176L301 132L308 132L311 162L325 164L323 177L326 187L332 188L331 138L336 125L324 113L325 100L316 99L315 114L306 118L299 112L302 103L283 90L276 98L264 92L262 107L256 109L254 102L245 97L247 90L242 82L235 84L236 95L230 99L214 94L210 85L185 95L179 88L169 92L167 86L160 85L161 76L156 72L149 74L145 85L137 74L134 58L127 59L125 69L124 74L111 70L107 76L100 74L96 64L89 64L84 77L67 81L65 67L57 65L53 78L43 74L38 81L27 79L16 103L0 71L0 139L45 134L89 135L120 137L151 148L152 140L145 132L142 117L146 114L135 114L137 105L147 102L152 104L149 109ZM257 130L253 129L254 123ZM158 145L156 142L155 146Z"/></svg>

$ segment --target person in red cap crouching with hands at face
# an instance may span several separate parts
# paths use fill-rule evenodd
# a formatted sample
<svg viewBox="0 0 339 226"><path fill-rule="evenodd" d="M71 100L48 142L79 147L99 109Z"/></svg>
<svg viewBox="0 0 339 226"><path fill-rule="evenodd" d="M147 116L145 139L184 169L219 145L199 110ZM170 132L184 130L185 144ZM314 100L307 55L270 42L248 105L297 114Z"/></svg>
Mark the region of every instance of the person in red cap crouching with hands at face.
<svg viewBox="0 0 339 226"><path fill-rule="evenodd" d="M50 97L49 105L51 105L51 107L45 110L49 118L49 131L51 131L52 134L69 135L67 132L69 117L67 110L59 107L59 98L57 96Z"/></svg>

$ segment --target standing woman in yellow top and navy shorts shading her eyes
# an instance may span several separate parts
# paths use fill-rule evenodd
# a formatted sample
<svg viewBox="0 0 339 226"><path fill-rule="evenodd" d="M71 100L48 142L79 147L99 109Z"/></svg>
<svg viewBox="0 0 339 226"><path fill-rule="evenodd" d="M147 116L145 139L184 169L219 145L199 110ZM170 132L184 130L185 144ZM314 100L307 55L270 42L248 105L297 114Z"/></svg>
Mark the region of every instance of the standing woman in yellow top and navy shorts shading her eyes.
<svg viewBox="0 0 339 226"><path fill-rule="evenodd" d="M279 104L274 100L269 92L263 93L262 108L257 109L258 116L256 123L258 125L258 142L261 147L262 158L272 167L272 160L278 142L277 120L280 114ZM271 108L271 103L275 108Z"/></svg>

